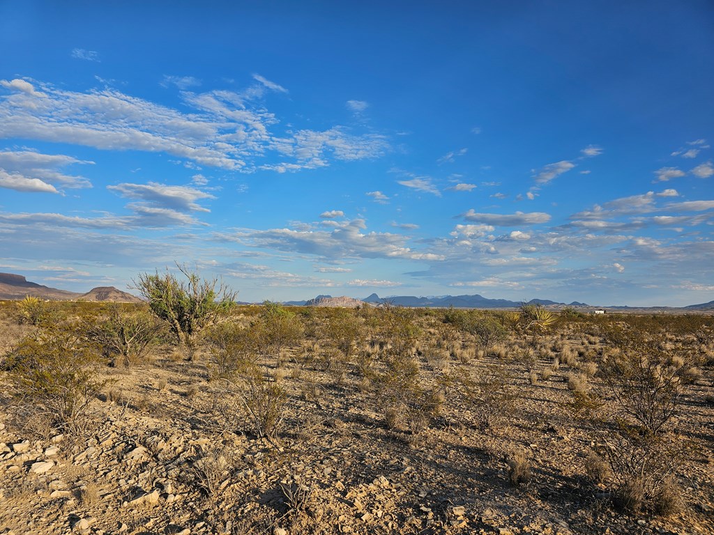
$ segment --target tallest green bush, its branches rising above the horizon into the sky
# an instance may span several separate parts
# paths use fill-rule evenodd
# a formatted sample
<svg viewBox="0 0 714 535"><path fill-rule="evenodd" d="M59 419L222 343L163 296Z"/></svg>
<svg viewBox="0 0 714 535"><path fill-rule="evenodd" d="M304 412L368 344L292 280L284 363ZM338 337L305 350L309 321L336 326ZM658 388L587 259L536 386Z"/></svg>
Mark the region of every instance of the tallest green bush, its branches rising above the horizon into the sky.
<svg viewBox="0 0 714 535"><path fill-rule="evenodd" d="M178 265L183 279L171 272L159 275L141 273L134 288L149 301L151 312L166 322L180 347L193 358L198 333L205 327L226 320L236 298L218 279L201 279L197 272Z"/></svg>

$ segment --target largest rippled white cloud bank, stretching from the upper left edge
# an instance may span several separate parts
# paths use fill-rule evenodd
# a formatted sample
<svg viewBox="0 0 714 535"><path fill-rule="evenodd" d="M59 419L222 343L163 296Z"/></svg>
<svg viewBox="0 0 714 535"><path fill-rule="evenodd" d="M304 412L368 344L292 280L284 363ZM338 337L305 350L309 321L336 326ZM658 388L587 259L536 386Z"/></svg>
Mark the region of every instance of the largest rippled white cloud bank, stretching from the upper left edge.
<svg viewBox="0 0 714 535"><path fill-rule="evenodd" d="M198 165L244 171L318 168L329 165L331 157L355 161L382 156L390 149L385 136L359 135L343 126L288 130L283 136L271 133L278 119L251 102L261 96L263 85L243 93L183 91L183 103L193 107L184 113L112 88L79 93L41 84L39 92L24 80L0 84L11 90L0 94L3 138L169 153ZM271 151L293 161L256 165Z"/></svg>

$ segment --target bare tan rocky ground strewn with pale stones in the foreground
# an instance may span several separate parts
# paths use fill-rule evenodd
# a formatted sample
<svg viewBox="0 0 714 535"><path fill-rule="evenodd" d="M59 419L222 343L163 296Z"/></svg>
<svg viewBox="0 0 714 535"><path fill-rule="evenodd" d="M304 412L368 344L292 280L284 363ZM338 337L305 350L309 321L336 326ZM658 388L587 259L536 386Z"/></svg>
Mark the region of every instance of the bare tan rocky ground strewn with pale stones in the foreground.
<svg viewBox="0 0 714 535"><path fill-rule="evenodd" d="M597 436L573 412L568 367L535 380L498 356L419 364L425 383L445 385L441 414L419 432L387 427L356 372L336 381L297 359L277 373L288 403L276 439L249 431L226 385L209 380L206 355L183 362L169 348L104 367L110 382L78 434L24 422L0 388L0 534L714 533L710 368L673 431L691 444L675 474L685 509L660 517L620 512L585 477ZM517 396L484 430L440 379L493 365ZM506 462L516 451L532 472L519 486Z"/></svg>

